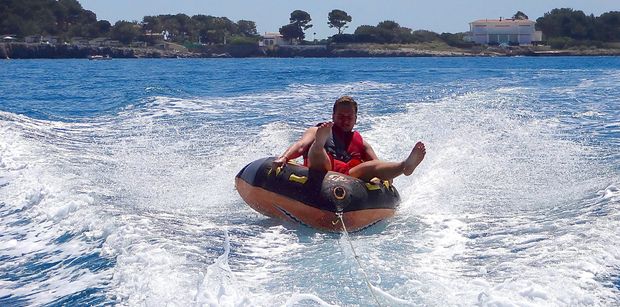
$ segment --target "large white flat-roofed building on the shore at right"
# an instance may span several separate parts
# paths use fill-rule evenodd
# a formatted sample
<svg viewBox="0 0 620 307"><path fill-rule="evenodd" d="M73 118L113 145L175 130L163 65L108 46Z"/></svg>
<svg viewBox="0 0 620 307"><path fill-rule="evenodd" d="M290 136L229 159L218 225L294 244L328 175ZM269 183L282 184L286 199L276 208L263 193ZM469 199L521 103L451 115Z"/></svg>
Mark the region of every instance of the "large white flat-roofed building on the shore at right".
<svg viewBox="0 0 620 307"><path fill-rule="evenodd" d="M524 19L481 19L469 23L469 40L476 44L531 45L542 40L536 22Z"/></svg>

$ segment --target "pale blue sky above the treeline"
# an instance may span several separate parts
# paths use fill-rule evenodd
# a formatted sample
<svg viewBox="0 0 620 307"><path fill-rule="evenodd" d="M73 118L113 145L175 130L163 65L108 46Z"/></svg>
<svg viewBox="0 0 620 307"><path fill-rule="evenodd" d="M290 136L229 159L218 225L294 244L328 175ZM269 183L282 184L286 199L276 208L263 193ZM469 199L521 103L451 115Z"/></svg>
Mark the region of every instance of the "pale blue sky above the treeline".
<svg viewBox="0 0 620 307"><path fill-rule="evenodd" d="M79 0L95 12L98 19L114 24L118 20L142 21L148 15L184 13L212 15L256 22L260 34L278 32L287 24L292 11L310 14L314 26L306 31L306 39L327 38L338 31L327 25L327 14L333 9L347 12L352 18L344 33L353 33L360 25L373 25L384 20L396 21L414 30L464 32L469 22L477 19L510 18L522 11L536 20L554 8L568 7L587 15L599 16L620 11L620 0ZM316 34L315 34L316 33Z"/></svg>

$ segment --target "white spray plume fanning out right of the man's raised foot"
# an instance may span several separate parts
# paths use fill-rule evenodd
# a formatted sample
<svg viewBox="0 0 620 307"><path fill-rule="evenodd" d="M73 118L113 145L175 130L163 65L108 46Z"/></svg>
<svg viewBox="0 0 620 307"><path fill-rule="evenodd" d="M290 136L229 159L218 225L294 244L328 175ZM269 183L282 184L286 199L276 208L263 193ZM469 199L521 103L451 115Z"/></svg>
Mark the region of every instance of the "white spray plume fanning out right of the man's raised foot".
<svg viewBox="0 0 620 307"><path fill-rule="evenodd" d="M592 149L558 138L533 114L515 117L493 99L469 93L374 120L365 136L384 159L399 161L416 141L426 143L415 174L396 181L404 187L404 207L409 195L432 204L430 210L450 204L447 210L488 211L501 203L501 210L513 211L539 207L540 200L555 206L582 197L591 180L600 180L594 169L584 172ZM397 137L385 138L387 131Z"/></svg>

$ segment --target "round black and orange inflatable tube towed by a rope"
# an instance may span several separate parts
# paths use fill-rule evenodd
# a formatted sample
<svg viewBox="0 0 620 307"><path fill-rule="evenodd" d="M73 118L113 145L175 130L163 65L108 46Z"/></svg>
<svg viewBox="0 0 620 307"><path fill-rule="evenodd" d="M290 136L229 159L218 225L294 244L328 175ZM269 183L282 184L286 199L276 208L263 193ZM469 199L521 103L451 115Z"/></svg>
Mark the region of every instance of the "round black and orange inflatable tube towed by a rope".
<svg viewBox="0 0 620 307"><path fill-rule="evenodd" d="M273 168L274 157L256 160L235 178L241 198L271 217L324 231L359 231L390 218L400 196L388 181L374 184L336 172L315 172L287 163Z"/></svg>

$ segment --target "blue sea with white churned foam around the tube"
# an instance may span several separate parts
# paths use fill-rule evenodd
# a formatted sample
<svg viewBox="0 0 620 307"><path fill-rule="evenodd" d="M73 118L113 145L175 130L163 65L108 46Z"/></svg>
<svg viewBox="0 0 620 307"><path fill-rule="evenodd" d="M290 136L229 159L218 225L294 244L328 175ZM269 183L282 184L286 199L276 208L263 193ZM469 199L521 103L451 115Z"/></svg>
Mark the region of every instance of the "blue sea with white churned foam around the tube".
<svg viewBox="0 0 620 307"><path fill-rule="evenodd" d="M341 95L426 144L395 217L253 211L236 173ZM0 306L110 304L617 306L620 58L0 61Z"/></svg>

